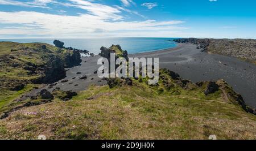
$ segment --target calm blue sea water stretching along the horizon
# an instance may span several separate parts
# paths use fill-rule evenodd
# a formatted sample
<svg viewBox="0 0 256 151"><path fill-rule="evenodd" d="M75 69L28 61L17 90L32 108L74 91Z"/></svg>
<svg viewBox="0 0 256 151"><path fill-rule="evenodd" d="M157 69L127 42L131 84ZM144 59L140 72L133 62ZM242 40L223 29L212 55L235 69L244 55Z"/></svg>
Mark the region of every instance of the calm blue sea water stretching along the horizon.
<svg viewBox="0 0 256 151"><path fill-rule="evenodd" d="M0 41L13 42L45 42L53 45L54 39L49 38L33 38L33 39L8 39ZM100 53L101 46L109 48L112 44L121 45L123 50L127 50L129 54L142 53L147 51L162 50L174 48L176 43L174 38L92 38L92 39L59 39L65 43L65 47L71 46L76 49L86 49L94 54Z"/></svg>

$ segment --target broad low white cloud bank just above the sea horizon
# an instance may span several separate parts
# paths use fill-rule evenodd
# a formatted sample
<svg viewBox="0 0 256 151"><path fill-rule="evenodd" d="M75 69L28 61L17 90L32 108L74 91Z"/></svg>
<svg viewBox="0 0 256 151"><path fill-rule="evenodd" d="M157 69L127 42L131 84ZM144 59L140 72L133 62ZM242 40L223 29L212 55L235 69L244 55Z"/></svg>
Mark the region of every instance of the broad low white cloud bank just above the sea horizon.
<svg viewBox="0 0 256 151"><path fill-rule="evenodd" d="M67 16L34 11L0 12L0 22L15 24L11 28L1 28L0 34L27 34L39 37L138 36L149 31L167 34L187 29L179 26L184 23L179 20L108 21L91 14Z"/></svg>

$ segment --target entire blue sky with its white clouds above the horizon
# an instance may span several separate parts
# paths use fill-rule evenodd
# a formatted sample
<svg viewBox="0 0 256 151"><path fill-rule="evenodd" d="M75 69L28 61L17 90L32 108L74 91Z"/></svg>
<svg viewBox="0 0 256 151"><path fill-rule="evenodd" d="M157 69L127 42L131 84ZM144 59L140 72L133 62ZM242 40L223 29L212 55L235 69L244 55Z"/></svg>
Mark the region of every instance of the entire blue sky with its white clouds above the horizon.
<svg viewBox="0 0 256 151"><path fill-rule="evenodd" d="M0 38L256 38L253 0L0 0Z"/></svg>

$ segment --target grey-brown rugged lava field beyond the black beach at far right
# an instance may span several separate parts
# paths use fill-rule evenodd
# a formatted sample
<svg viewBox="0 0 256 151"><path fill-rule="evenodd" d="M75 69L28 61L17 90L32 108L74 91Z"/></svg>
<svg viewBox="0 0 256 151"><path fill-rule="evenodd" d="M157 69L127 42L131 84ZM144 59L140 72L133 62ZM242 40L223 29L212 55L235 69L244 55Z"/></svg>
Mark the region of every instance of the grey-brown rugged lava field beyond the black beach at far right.
<svg viewBox="0 0 256 151"><path fill-rule="evenodd" d="M247 61L256 63L256 40L180 38L175 39L174 41L195 44L198 48L203 49L208 53L243 58Z"/></svg>

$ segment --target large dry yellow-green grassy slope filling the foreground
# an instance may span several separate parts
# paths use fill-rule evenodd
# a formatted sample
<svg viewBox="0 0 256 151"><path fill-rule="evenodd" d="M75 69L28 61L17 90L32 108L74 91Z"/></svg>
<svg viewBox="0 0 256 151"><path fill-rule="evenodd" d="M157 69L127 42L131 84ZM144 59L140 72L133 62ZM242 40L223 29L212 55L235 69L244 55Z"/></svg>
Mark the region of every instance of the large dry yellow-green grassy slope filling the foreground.
<svg viewBox="0 0 256 151"><path fill-rule="evenodd" d="M92 86L71 101L26 107L0 120L0 138L36 139L256 139L256 117L224 92L204 95L206 85L170 90L160 80L151 87ZM229 89L227 89L229 90ZM26 115L36 112L36 115Z"/></svg>

